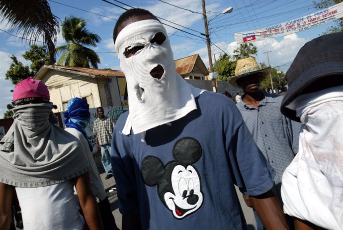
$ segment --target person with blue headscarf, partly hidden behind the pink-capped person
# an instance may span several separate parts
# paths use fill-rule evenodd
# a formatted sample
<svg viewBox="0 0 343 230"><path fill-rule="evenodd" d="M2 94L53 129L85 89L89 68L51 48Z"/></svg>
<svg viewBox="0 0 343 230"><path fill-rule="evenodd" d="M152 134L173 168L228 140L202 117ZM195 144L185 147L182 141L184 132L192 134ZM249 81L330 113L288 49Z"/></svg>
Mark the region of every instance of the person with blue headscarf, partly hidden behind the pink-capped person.
<svg viewBox="0 0 343 230"><path fill-rule="evenodd" d="M96 197L104 230L119 230L112 215L111 206L101 181L99 171L92 157L92 146L88 140L86 126L89 123L89 105L81 98L73 98L67 103L67 111L63 113L65 130L77 137L84 145L90 165L89 179L91 190ZM88 146L88 147L87 147Z"/></svg>

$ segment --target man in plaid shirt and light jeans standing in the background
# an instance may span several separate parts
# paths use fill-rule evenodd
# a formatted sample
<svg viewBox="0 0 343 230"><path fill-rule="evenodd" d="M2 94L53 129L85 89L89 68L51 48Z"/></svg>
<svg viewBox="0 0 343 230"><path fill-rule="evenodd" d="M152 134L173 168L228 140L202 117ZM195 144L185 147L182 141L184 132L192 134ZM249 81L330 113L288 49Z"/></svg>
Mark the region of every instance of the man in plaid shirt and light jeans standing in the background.
<svg viewBox="0 0 343 230"><path fill-rule="evenodd" d="M105 180L107 180L113 176L111 166L111 138L114 125L111 119L104 115L102 107L98 107L96 113L98 118L96 118L93 124L95 145L101 151L101 163L106 173Z"/></svg>

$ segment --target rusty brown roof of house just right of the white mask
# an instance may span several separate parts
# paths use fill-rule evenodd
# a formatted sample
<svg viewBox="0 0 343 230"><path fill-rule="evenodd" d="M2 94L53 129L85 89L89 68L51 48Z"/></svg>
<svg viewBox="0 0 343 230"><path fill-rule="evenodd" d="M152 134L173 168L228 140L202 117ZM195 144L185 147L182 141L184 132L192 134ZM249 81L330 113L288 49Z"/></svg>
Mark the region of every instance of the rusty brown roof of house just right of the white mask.
<svg viewBox="0 0 343 230"><path fill-rule="evenodd" d="M193 54L175 60L176 73L179 75L189 74L193 71L195 64L199 67L204 76L209 75L209 72L199 54Z"/></svg>

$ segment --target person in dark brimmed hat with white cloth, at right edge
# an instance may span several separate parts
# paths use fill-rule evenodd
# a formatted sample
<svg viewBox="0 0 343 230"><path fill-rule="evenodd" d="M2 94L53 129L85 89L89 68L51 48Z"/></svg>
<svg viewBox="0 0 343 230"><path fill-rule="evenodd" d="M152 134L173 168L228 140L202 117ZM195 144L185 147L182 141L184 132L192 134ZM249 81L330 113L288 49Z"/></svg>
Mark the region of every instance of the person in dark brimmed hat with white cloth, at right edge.
<svg viewBox="0 0 343 230"><path fill-rule="evenodd" d="M343 32L307 42L285 78L281 113L303 126L282 176L283 210L297 230L342 230Z"/></svg>

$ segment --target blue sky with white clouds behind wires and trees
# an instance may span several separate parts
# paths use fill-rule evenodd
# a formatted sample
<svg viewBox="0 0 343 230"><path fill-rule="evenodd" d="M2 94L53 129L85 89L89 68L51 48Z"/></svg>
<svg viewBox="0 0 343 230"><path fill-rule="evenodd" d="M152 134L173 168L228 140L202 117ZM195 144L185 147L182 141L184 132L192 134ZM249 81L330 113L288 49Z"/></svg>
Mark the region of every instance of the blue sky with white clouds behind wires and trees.
<svg viewBox="0 0 343 230"><path fill-rule="evenodd" d="M183 31L166 26L174 59L198 53L208 66L207 47L204 36L200 34L204 33L201 0L107 1L127 9L130 8L127 5L148 9L163 18L162 22L180 28ZM125 11L124 9L103 0L48 0L48 2L52 12L61 21L69 15L87 19L87 29L101 37L101 42L93 48L101 59L98 67L120 70L112 32L116 19ZM205 2L208 20L227 7L234 8L231 13L221 14L209 22L210 37L214 44L212 55L214 54L217 59L223 51L229 55L233 54L233 50L238 46L234 38L235 32L263 28L318 11L314 8L312 0L205 0ZM329 22L291 35L254 42L258 50L257 62L267 64L268 52L270 66L286 72L298 50L332 25L335 23ZM5 23L0 24L0 29L8 31ZM22 58L29 45L3 31L0 31L0 41L2 44L0 46L0 118L2 118L6 105L12 100L10 90L14 89L10 81L5 80L5 73L11 63L9 56L14 54L24 64L29 64ZM65 44L64 40L59 35L56 45L63 44Z"/></svg>

